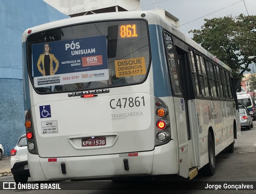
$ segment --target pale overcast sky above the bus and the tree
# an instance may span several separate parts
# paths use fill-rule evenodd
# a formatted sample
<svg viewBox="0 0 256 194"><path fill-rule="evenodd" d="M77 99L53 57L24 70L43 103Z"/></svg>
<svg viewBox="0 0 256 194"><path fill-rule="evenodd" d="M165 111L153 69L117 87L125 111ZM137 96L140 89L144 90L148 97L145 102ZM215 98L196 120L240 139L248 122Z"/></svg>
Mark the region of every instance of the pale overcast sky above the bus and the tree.
<svg viewBox="0 0 256 194"><path fill-rule="evenodd" d="M240 14L256 15L256 0L153 0L153 2L152 0L140 0L141 10L157 8L168 11L180 20L180 30L190 38L193 35L188 31L201 29L205 18L212 19L230 15L235 17ZM254 64L250 64L249 68L256 72ZM244 74L247 73L251 72L244 72Z"/></svg>

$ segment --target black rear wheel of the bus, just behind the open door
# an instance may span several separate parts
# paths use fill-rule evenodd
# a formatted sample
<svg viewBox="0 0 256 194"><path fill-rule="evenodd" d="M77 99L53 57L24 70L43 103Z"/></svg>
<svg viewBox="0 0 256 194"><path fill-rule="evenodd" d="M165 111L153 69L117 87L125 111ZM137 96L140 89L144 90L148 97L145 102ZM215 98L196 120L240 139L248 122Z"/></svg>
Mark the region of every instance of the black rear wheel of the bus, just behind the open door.
<svg viewBox="0 0 256 194"><path fill-rule="evenodd" d="M204 174L207 176L212 176L215 173L215 147L212 140L212 134L208 131L208 158L209 163L205 166Z"/></svg>

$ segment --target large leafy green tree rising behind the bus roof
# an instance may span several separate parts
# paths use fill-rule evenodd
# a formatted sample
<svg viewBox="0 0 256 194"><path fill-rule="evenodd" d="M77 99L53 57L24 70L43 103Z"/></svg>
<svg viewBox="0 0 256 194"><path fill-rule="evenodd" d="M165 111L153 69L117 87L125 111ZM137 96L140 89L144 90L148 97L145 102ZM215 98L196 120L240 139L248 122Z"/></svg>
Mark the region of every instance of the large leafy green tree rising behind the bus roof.
<svg viewBox="0 0 256 194"><path fill-rule="evenodd" d="M248 66L256 62L256 16L204 19L201 29L190 30L193 40L228 65L234 78L241 80Z"/></svg>

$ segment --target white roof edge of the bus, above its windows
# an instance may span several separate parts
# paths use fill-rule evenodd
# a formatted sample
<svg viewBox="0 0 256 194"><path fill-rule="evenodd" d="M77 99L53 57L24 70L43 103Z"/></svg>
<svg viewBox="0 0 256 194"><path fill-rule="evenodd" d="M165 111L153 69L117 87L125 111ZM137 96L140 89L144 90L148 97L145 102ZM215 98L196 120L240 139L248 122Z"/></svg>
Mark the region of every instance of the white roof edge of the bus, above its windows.
<svg viewBox="0 0 256 194"><path fill-rule="evenodd" d="M142 17L142 14L146 14L145 17ZM104 17L102 16L104 15ZM115 19L146 19L148 21L148 24L154 24L154 25L161 25L164 28L166 28L168 31L176 35L178 38L180 38L182 41L186 42L191 47L194 47L204 55L206 55L208 58L212 59L212 61L215 61L217 64L219 64L224 69L230 71L232 73L232 69L228 67L225 63L220 61L217 57L212 55L210 52L208 52L206 49L201 47L198 43L193 41L191 38L187 37L182 33L177 27L170 24L167 20L162 18L160 15L158 15L155 12L152 11L126 11L126 12L110 12L110 13L101 13L101 14L91 14L91 15L85 15L85 16L77 16L73 18L66 18L63 20L58 20L54 22L49 22L46 24L38 25L35 27L29 28L32 33L37 33L40 31L48 30L48 29L54 29L58 27L64 27L67 25L74 25L74 24L82 24L86 22L97 22L97 21L106 21L106 20L115 20ZM28 33L28 30L24 31L22 35L22 42L25 42L27 37L30 35Z"/></svg>

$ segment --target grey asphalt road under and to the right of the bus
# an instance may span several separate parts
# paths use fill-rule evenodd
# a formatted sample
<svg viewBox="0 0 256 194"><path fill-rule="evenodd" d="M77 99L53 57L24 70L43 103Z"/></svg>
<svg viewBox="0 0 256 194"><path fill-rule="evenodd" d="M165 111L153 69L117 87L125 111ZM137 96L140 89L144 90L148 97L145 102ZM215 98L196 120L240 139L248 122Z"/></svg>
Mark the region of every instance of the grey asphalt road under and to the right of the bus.
<svg viewBox="0 0 256 194"><path fill-rule="evenodd" d="M172 176L159 176L155 177L157 181L142 181L142 182L112 182L106 181L66 181L60 182L61 188L82 188L84 190L0 190L0 193L13 193L22 192L22 194L31 193L255 193L255 190L186 190L182 191L189 184L193 182L198 185L198 182L202 182L202 185L206 185L208 182L213 184L222 184L229 181L232 184L235 181L239 181L241 184L248 184L248 181L255 181L254 188L256 189L256 121L254 121L254 127L251 130L242 129L242 135L235 141L234 153L222 152L216 157L216 171L214 176L203 176L199 174L192 181L180 181L174 182L176 177ZM30 180L30 179L29 179ZM0 178L0 184L2 181L12 182L13 177L8 176ZM213 181L213 182L212 182ZM218 182L222 181L222 182ZM223 182L224 181L224 182ZM56 183L56 182L54 182ZM168 186L167 186L167 185ZM148 187L147 187L148 186ZM180 188L180 191L170 191L167 188ZM200 186L199 186L200 187ZM151 188L151 190L147 190Z"/></svg>

